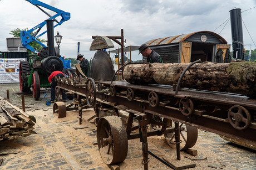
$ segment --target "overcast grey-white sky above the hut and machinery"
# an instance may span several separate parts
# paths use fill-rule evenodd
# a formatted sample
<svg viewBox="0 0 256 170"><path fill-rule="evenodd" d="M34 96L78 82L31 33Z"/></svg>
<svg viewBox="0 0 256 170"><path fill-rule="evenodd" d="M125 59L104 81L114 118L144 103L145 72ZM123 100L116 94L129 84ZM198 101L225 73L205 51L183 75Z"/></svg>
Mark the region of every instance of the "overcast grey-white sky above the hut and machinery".
<svg viewBox="0 0 256 170"><path fill-rule="evenodd" d="M244 44L252 44L252 49L256 48L255 0L41 0L41 2L71 13L70 20L55 28L55 35L58 31L63 36L60 53L66 58L76 58L77 42L80 42L80 53L90 60L95 54L95 51L89 50L93 41L92 35L120 36L121 29L124 29L125 46L141 45L151 39L201 30L219 34L224 28L225 21L230 17L229 11L234 8L241 8L244 11L242 13L245 24L243 24ZM245 11L249 8L253 9ZM9 34L11 30L31 29L45 19L48 19L45 13L25 0L0 0L0 51L7 51L6 38L12 37ZM232 44L230 21L220 35L228 44ZM47 40L47 35L40 38ZM114 45L113 49L119 47L116 43ZM245 48L250 49L249 46ZM138 51L132 53L132 60L142 59L137 53Z"/></svg>

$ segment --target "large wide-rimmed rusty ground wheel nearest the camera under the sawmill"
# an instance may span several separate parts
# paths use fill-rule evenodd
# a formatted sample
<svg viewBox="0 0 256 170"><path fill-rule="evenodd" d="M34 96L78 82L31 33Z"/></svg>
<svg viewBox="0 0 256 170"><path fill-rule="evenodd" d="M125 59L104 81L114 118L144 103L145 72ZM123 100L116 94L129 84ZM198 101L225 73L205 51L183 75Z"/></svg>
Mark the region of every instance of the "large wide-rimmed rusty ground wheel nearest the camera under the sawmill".
<svg viewBox="0 0 256 170"><path fill-rule="evenodd" d="M101 117L97 127L97 142L101 158L106 164L125 160L128 152L128 140L119 117Z"/></svg>

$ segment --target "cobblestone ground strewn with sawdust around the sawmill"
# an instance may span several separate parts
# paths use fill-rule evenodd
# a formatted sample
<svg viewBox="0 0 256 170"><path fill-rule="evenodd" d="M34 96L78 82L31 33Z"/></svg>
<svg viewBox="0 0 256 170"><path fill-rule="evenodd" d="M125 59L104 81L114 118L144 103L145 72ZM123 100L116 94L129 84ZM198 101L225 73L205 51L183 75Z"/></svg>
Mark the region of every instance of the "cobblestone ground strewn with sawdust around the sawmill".
<svg viewBox="0 0 256 170"><path fill-rule="evenodd" d="M0 96L6 97L9 90L10 102L22 108L19 84L0 84ZM16 141L1 141L0 169L110 169L101 159L95 145L96 127L87 119L94 112L83 110L82 125L78 124L77 112L67 112L67 117L58 119L52 114L52 106L46 106L42 97L50 91L45 90L41 98L35 101L32 95L25 95L26 112L37 119L36 135ZM72 101L68 101L70 103ZM86 127L75 130L74 127ZM149 137L149 150L159 157L176 155L175 148L170 148L164 137ZM224 141L214 133L199 130L198 142L193 147L197 156L181 152L181 160L188 158L196 164L191 169L256 169L256 152ZM12 154L12 151L18 152ZM9 154L1 154L3 151ZM149 169L167 169L163 163L150 157ZM143 169L139 139L129 141L127 158L120 163L120 169ZM1 164L1 163L0 163Z"/></svg>

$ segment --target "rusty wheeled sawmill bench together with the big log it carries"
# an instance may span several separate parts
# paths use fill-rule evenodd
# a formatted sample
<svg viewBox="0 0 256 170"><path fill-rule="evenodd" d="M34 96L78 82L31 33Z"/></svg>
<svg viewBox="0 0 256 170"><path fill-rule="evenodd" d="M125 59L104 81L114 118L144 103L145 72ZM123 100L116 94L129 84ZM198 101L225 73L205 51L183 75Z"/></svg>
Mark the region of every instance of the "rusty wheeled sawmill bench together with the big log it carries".
<svg viewBox="0 0 256 170"><path fill-rule="evenodd" d="M170 146L176 146L176 159L180 160L180 151L186 151L196 144L198 128L216 133L225 140L255 150L256 99L255 95L248 95L252 92L250 90L255 90L253 81L256 73L255 64L250 65L247 62L198 64L199 62L200 60L196 60L191 64L176 65L159 63L155 67L154 64L149 63L128 63L119 68L119 70L125 68L123 73L127 81L114 81L115 74L119 70L115 72L111 80L106 81L94 81L91 78L81 77L59 78L57 87L60 91L71 91L79 97L73 108L71 105L66 106L63 102L56 102L53 106L53 114L65 117L67 111L78 110L81 122L82 109L94 107L97 144L101 158L106 164L125 161L128 151L127 141L140 138L142 142L141 163L144 169L148 169L149 154L173 168L166 160L157 157L149 150L147 137L164 135ZM96 60L94 64L97 65ZM221 78L223 75L209 72L206 69L210 67L208 65L212 65L213 68L219 67L220 70L229 73L227 71L230 70L229 66L237 70L234 65L242 65L241 68L244 68L244 64L251 70L242 71L245 75L242 79L247 85L243 89L245 94L236 94L234 91L214 91L211 87L215 86L211 84L203 86L211 79L215 80L217 76ZM169 65L171 65L170 68L176 68L178 71L175 70L175 74L159 75L161 72L157 66L169 70ZM144 71L133 68L142 68ZM204 73L203 76L196 74L198 71ZM233 73L237 75L232 69L230 72L230 76ZM131 75L133 79L130 80L127 75ZM193 76L196 76L198 80L194 80ZM145 79L142 81L141 78ZM170 78L175 78L175 83L157 84L157 80L169 82ZM154 83L145 83L151 79ZM198 85L197 88L186 86L185 82L190 79L196 82L194 84ZM229 80L223 80L221 83L220 81L214 82L216 84L219 82L220 86L225 82L230 83L230 86L234 88L234 85L243 84L236 83L231 78ZM134 84L134 82L137 83Z"/></svg>

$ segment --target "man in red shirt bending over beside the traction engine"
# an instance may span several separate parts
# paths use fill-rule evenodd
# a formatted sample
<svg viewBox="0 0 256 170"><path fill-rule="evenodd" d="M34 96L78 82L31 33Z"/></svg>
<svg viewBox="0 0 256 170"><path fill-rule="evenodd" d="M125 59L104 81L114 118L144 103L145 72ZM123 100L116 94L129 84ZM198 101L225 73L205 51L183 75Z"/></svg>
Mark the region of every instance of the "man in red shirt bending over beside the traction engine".
<svg viewBox="0 0 256 170"><path fill-rule="evenodd" d="M48 81L51 84L51 103L53 103L56 99L55 87L57 85L57 81L55 81L55 76L63 78L63 77L65 77L65 74L62 73L61 71L53 71L52 74L48 78ZM67 101L67 95L65 94L65 92L63 92L63 90L62 90L61 96L62 96L62 100L64 102L66 102Z"/></svg>

